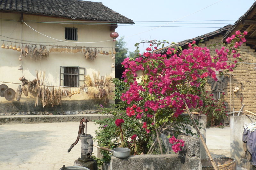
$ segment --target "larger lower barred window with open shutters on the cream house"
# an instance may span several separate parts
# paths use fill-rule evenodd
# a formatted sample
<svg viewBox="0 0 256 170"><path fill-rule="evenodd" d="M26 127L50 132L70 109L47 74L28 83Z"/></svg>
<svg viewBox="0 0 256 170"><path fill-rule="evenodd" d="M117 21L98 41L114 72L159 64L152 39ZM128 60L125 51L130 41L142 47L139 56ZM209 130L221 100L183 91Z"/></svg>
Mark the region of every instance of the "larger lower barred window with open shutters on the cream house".
<svg viewBox="0 0 256 170"><path fill-rule="evenodd" d="M60 86L79 87L84 85L85 68L60 67Z"/></svg>

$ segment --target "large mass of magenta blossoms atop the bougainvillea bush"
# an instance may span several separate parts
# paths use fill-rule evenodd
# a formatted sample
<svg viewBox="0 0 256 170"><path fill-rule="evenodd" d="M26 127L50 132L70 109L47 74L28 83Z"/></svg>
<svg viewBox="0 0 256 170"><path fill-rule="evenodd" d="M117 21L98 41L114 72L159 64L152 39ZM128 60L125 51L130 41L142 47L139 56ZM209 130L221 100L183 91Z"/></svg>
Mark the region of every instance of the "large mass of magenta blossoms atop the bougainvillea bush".
<svg viewBox="0 0 256 170"><path fill-rule="evenodd" d="M130 105L126 109L126 114L130 117L137 114L136 118L145 116L145 121L152 118L153 114L166 109L172 116L178 117L184 112L184 101L189 108L198 107L198 104L202 106L203 101L198 92L201 80L208 76L217 80L215 71L233 71L237 60L235 64L228 63L228 56L240 57L236 48L245 42L246 34L236 32L236 35L227 39L230 47L216 49L215 55L210 54L209 48L196 46L196 42L193 41L192 44L188 44L188 49L179 53L177 48L168 48L168 57L152 52L151 44L143 54L143 60L142 57L126 58L122 63L125 68L123 77L129 88L121 96L121 99ZM240 42L241 40L243 42ZM139 70L144 73L141 83L135 81L138 77L136 71ZM142 108L133 107L138 103L145 108L145 114L142 114ZM144 122L142 127L149 133L147 122Z"/></svg>

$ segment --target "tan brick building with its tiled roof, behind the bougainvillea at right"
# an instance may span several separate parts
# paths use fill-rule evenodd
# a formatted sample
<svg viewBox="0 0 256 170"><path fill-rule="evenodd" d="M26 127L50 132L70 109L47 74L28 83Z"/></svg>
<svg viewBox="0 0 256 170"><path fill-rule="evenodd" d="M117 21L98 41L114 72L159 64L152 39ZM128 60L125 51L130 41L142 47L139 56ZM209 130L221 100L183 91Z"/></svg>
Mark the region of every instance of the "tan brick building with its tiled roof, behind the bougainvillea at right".
<svg viewBox="0 0 256 170"><path fill-rule="evenodd" d="M228 36L235 34L237 30L248 32L245 36L247 41L239 49L243 61L238 62L239 65L236 67L236 70L225 74L223 77L219 77L219 86L216 85L217 83L214 84L214 82L212 84L208 83L205 89L214 93L214 97L217 99L219 93L224 91L228 111L239 111L244 104L244 109L256 113L256 2L234 25L227 25L211 33L178 42L176 46L186 49L188 48L188 43L196 41L196 44L199 44L200 40L204 40L203 43L199 44L200 46L223 43ZM165 47L158 51L165 53L168 48ZM212 55L216 54L216 48L210 49ZM229 58L228 62L232 63L233 61L233 58ZM239 92L234 92L236 85L240 89Z"/></svg>

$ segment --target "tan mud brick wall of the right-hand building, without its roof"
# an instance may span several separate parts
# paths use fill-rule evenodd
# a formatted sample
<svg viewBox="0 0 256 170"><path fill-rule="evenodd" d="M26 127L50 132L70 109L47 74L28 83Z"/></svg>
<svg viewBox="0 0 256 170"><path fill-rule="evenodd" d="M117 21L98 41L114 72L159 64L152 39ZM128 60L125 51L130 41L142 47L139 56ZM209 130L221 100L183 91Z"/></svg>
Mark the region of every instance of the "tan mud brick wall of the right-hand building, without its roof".
<svg viewBox="0 0 256 170"><path fill-rule="evenodd" d="M222 39L222 35L216 36L213 39L209 39L209 41L205 41L204 44L201 44L201 46L222 43ZM212 55L216 55L215 49L216 48L210 49ZM228 112L230 111L230 107L232 111L233 108L235 108L235 111L239 111L242 105L245 104L244 109L256 113L256 69L254 69L254 67L256 67L255 50L251 49L249 46L246 46L244 43L241 45L239 52L243 61L238 61L240 65L237 65L236 70L229 72L230 74L234 74L234 76L231 76L231 84L229 84L229 75L226 75L228 77L228 82L225 88L225 101L228 103ZM229 58L230 63L233 63L234 60L234 58ZM240 89L239 93L233 92L235 84ZM231 103L229 92L230 85ZM210 92L211 85L207 84L205 89Z"/></svg>

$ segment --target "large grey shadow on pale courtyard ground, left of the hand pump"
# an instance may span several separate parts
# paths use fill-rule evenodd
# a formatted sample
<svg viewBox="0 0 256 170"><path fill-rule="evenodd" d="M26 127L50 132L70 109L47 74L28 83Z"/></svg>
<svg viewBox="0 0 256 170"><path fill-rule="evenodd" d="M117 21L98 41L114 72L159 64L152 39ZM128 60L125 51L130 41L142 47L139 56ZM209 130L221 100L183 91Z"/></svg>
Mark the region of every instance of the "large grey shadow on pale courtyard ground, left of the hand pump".
<svg viewBox="0 0 256 170"><path fill-rule="evenodd" d="M49 144L45 140L49 133L46 130L24 132L0 127L0 164L28 161L36 152L43 150L42 146Z"/></svg>

